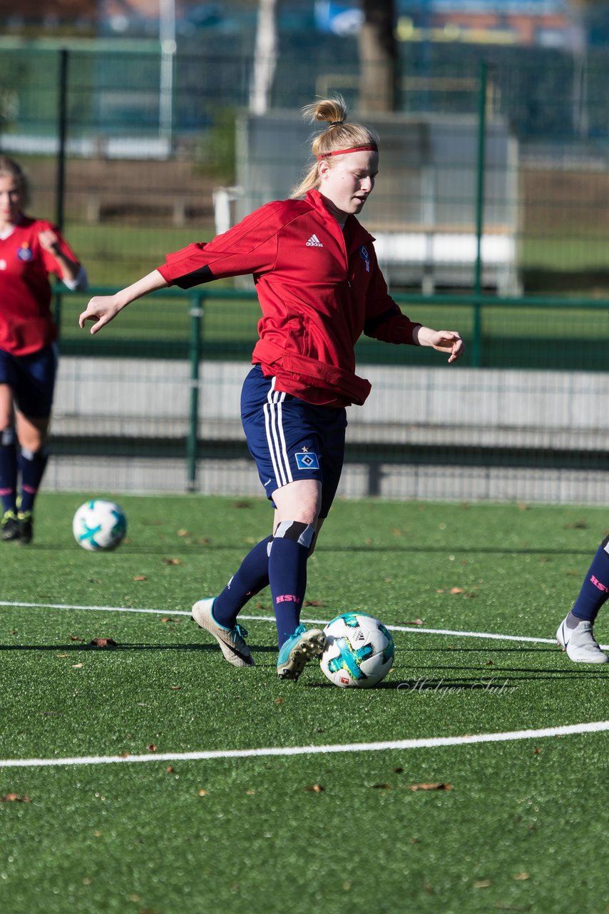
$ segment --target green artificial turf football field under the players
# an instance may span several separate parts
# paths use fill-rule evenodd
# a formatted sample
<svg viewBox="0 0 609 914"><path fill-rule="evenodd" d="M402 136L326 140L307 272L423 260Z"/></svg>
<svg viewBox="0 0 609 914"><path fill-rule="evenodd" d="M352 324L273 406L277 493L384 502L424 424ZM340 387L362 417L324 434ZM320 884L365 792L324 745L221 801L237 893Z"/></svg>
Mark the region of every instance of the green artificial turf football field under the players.
<svg viewBox="0 0 609 914"><path fill-rule="evenodd" d="M128 540L91 554L85 497L41 494L34 543L0 544L4 914L609 909L607 731L585 729L609 669L552 643L604 509L338 502L302 616L395 626L359 691L314 664L278 681L268 591L253 669L189 621L268 532L263 501L117 496ZM486 734L513 736L429 744Z"/></svg>

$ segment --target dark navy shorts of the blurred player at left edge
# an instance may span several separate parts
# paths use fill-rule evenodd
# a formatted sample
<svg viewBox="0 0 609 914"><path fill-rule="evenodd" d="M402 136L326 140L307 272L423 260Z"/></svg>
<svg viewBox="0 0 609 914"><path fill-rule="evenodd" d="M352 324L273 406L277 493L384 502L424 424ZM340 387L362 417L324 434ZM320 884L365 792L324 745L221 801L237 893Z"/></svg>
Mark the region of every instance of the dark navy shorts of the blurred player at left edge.
<svg viewBox="0 0 609 914"><path fill-rule="evenodd" d="M12 388L17 409L24 416L50 416L57 369L56 345L47 345L31 356L12 356L0 349L0 384Z"/></svg>

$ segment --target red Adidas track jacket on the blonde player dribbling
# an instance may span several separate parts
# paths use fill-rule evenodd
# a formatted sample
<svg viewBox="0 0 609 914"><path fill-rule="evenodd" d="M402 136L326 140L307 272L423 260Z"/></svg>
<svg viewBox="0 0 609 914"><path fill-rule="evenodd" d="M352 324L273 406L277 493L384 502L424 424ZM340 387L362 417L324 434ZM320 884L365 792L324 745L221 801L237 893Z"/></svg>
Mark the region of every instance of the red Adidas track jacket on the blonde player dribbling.
<svg viewBox="0 0 609 914"><path fill-rule="evenodd" d="M158 269L182 289L252 273L262 308L252 362L277 377L276 389L309 403L363 403L371 386L355 374L353 351L362 333L414 344L418 324L387 292L373 236L354 216L342 231L316 190L268 203Z"/></svg>

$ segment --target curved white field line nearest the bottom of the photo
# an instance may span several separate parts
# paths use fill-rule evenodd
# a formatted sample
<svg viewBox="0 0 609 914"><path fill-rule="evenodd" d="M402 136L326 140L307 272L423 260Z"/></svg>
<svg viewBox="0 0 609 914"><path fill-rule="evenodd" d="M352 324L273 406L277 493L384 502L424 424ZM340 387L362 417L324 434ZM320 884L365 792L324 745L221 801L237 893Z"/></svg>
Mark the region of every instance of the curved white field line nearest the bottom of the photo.
<svg viewBox="0 0 609 914"><path fill-rule="evenodd" d="M609 730L609 720L589 724L569 724L540 730L513 730L508 733L477 733L458 737L430 739L394 739L391 742L346 743L330 746L287 746L267 749L216 749L208 752L154 752L149 755L92 755L71 759L2 759L0 768L40 768L66 765L108 765L133 761L200 761L213 759L251 759L264 756L330 755L336 752L379 752L386 749L437 749L442 746L470 746L473 743L508 742L516 739L545 739L577 733L600 733Z"/></svg>

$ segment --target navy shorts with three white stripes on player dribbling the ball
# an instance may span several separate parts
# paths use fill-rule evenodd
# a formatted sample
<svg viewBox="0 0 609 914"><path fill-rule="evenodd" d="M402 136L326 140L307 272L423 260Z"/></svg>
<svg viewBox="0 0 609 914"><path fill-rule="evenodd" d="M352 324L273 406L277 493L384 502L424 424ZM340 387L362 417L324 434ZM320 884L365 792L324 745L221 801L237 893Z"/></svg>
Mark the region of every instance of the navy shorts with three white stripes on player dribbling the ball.
<svg viewBox="0 0 609 914"><path fill-rule="evenodd" d="M241 422L267 497L299 479L319 479L320 517L327 517L341 479L347 412L314 406L275 389L252 368L241 391Z"/></svg>

